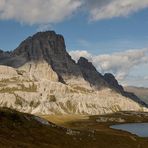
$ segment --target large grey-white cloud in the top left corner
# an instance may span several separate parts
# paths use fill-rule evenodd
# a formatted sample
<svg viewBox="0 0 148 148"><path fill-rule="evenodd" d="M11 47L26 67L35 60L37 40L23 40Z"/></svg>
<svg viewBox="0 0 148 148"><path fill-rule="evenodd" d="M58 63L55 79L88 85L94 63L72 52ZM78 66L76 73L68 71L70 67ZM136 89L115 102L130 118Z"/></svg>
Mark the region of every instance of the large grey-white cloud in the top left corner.
<svg viewBox="0 0 148 148"><path fill-rule="evenodd" d="M0 19L27 24L57 23L72 15L80 0L0 0Z"/></svg>

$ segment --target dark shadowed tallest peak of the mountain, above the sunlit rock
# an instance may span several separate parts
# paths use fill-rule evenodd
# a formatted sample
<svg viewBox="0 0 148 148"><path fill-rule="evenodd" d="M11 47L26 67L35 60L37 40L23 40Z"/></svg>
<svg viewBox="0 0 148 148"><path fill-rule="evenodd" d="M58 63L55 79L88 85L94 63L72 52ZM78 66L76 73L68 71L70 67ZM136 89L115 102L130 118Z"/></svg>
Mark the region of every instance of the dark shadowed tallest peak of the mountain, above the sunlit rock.
<svg viewBox="0 0 148 148"><path fill-rule="evenodd" d="M28 37L12 52L11 59L7 63L15 68L30 61L46 61L62 82L67 77L82 76L79 67L66 51L64 37L54 31L38 32Z"/></svg>

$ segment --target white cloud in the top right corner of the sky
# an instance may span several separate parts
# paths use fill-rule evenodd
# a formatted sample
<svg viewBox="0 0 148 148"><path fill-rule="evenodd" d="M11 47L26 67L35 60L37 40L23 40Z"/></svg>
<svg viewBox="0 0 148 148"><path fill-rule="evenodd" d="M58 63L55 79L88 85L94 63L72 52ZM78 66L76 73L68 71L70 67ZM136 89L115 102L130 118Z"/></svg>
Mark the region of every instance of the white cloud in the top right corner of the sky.
<svg viewBox="0 0 148 148"><path fill-rule="evenodd" d="M91 20L125 17L148 8L148 0L87 0Z"/></svg>

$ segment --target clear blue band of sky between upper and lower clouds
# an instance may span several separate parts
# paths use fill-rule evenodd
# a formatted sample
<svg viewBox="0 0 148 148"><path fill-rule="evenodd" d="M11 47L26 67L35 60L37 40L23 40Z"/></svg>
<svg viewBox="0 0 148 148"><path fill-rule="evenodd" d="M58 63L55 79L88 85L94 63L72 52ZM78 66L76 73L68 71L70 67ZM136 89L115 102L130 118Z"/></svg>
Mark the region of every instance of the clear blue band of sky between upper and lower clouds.
<svg viewBox="0 0 148 148"><path fill-rule="evenodd" d="M49 30L55 30L65 37L68 50L88 50L95 54L112 53L125 49L148 47L147 16L148 9L129 17L97 22L89 22L87 16L79 15L49 25ZM14 49L22 40L39 30L40 25L1 20L0 48Z"/></svg>

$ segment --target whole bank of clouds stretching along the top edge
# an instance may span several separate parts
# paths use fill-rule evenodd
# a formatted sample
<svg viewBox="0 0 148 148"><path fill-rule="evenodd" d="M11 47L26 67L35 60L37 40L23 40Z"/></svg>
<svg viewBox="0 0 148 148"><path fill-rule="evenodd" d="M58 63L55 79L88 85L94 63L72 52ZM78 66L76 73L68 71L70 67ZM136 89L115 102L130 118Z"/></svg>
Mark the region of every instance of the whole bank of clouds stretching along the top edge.
<svg viewBox="0 0 148 148"><path fill-rule="evenodd" d="M0 19L49 24L85 12L97 21L128 16L147 7L148 0L0 0Z"/></svg>

